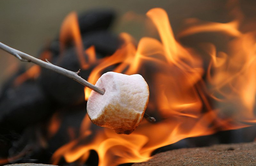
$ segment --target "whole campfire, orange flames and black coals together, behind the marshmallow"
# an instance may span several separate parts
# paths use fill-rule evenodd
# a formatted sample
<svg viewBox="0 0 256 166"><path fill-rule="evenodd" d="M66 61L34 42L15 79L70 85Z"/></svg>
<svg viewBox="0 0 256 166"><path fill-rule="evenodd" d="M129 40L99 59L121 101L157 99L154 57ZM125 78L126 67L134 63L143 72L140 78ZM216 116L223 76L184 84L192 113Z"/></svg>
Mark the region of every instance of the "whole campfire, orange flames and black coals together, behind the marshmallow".
<svg viewBox="0 0 256 166"><path fill-rule="evenodd" d="M93 85L106 72L140 74L150 93L145 113L156 122L144 116L129 135L97 126L86 113L92 88L33 64L2 87L0 164L144 162L158 150L173 149L168 145L186 147L181 141L191 137L215 139L198 146L233 143L221 140L242 128L250 136L239 142L253 141L256 133L248 127L256 123L255 22L236 4L228 5L229 21L189 18L175 34L164 9L153 8L145 18L127 13L124 18L145 19L152 36L158 34L138 42L128 33L108 31L111 14L102 12L92 24L86 19L95 13L68 14L40 59L81 69L77 74Z"/></svg>

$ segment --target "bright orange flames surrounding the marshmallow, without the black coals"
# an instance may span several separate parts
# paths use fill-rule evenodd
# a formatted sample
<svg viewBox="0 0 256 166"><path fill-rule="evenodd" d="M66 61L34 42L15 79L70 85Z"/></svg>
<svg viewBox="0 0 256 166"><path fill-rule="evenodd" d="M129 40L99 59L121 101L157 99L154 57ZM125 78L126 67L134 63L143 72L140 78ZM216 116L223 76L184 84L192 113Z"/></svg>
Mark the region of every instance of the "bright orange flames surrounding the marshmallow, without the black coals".
<svg viewBox="0 0 256 166"><path fill-rule="evenodd" d="M88 81L95 84L110 67L114 72L141 74L150 90L146 111L160 115L161 120L151 124L144 119L131 135L118 135L111 129L95 126L86 116L80 137L60 147L52 156L53 164L58 164L62 157L66 162L84 163L90 150L98 153L99 166L142 162L150 159L156 148L184 138L256 122L255 31L241 32L240 20L216 23L190 19L188 27L175 38L163 9L151 9L147 16L161 40L144 37L136 47L132 36L122 33L122 47L102 59L96 59L93 47L87 49L89 61L98 63ZM207 68L198 49L185 47L177 40L206 32L229 37L225 50L218 49L211 40L199 43L200 51L211 59ZM80 43L79 36L76 40ZM80 44L77 47L81 49ZM85 61L80 60L84 65ZM85 99L90 92L85 88Z"/></svg>

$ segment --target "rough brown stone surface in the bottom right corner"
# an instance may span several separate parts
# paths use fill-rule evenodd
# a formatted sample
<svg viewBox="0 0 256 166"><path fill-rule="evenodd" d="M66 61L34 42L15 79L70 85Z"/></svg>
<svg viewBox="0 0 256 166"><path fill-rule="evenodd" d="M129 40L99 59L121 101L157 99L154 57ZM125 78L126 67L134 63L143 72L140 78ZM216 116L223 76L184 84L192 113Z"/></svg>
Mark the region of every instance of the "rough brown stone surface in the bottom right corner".
<svg viewBox="0 0 256 166"><path fill-rule="evenodd" d="M255 166L256 142L182 148L154 155L148 162L132 166Z"/></svg>

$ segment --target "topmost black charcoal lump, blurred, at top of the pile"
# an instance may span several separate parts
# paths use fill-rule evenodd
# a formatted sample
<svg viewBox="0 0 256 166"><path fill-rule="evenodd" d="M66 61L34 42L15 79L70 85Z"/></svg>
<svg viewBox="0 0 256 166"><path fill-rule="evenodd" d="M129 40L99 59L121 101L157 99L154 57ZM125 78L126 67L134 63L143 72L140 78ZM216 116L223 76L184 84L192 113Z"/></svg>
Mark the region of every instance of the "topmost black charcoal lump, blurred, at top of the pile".
<svg viewBox="0 0 256 166"><path fill-rule="evenodd" d="M111 9L94 9L79 14L78 22L81 34L90 31L106 30L115 19L115 12Z"/></svg>

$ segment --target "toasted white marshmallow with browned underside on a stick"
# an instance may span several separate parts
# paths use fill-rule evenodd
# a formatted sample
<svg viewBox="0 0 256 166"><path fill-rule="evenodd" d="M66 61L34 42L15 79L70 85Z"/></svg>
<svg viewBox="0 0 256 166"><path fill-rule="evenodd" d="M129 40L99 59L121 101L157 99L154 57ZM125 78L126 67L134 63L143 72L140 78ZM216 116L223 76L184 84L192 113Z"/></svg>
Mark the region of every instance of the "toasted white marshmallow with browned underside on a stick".
<svg viewBox="0 0 256 166"><path fill-rule="evenodd" d="M87 113L94 124L114 129L118 134L130 134L140 124L148 105L149 89L140 74L116 72L103 74L95 86L103 95L92 91Z"/></svg>

